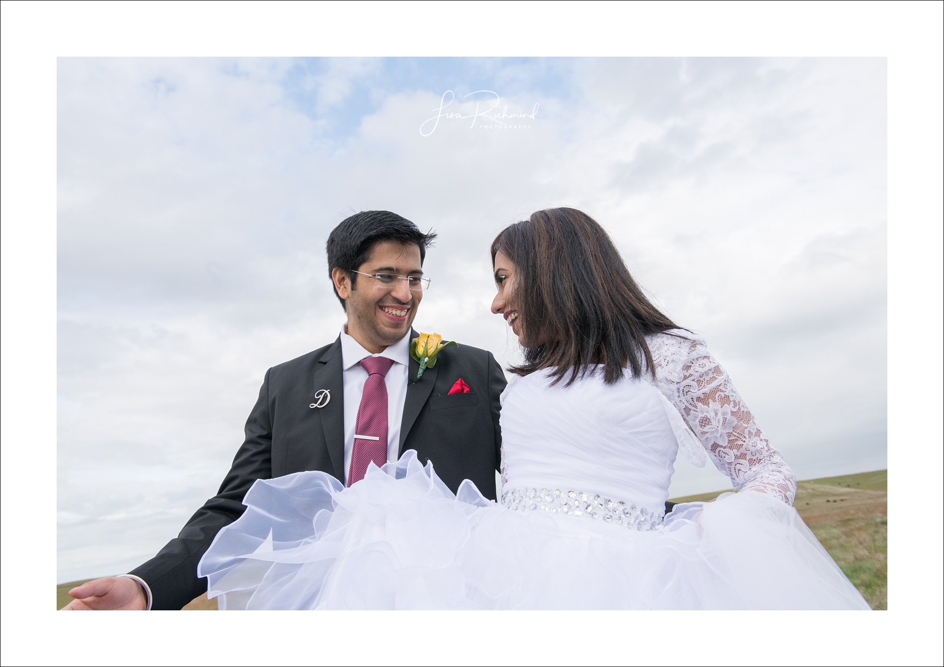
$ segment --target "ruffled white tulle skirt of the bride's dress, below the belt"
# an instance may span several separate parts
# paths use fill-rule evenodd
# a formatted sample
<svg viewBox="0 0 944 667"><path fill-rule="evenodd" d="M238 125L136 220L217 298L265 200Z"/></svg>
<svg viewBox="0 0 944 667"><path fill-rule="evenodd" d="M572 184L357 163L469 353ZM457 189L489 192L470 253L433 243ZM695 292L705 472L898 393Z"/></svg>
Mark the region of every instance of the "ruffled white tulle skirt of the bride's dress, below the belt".
<svg viewBox="0 0 944 667"><path fill-rule="evenodd" d="M345 489L260 479L197 574L219 609L868 609L796 510L677 505L655 530L457 494L409 451Z"/></svg>

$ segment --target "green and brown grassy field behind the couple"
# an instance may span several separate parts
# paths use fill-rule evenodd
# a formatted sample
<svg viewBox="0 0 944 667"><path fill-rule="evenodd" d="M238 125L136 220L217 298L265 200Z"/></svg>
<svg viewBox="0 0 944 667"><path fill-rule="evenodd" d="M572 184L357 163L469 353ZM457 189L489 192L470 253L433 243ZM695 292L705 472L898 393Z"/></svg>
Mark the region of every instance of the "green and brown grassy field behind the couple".
<svg viewBox="0 0 944 667"><path fill-rule="evenodd" d="M877 470L859 475L823 477L797 482L797 509L806 525L826 547L872 609L887 609L888 519L886 495L888 471ZM676 503L708 501L721 493L686 495L671 498ZM56 609L72 600L69 590L91 579L70 581L56 587ZM207 594L183 608L188 611L216 609L216 600Z"/></svg>

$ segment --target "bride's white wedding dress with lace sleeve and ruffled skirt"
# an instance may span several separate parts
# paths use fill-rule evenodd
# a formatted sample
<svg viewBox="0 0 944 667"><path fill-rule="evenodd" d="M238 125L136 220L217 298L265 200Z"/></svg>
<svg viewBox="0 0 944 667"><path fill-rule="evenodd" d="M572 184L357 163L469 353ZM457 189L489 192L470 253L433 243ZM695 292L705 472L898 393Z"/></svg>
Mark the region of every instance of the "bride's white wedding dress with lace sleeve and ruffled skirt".
<svg viewBox="0 0 944 667"><path fill-rule="evenodd" d="M260 479L198 575L219 609L868 609L728 376L675 333L649 338L654 380L514 378L500 504L468 480L453 494L413 451L349 489ZM680 448L738 492L664 517Z"/></svg>

